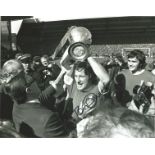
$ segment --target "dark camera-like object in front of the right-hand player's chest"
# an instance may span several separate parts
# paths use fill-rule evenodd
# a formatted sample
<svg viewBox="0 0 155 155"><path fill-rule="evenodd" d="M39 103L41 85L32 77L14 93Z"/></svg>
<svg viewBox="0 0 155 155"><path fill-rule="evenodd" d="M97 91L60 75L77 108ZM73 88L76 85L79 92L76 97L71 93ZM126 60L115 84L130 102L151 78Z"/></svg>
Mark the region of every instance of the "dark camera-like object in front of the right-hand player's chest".
<svg viewBox="0 0 155 155"><path fill-rule="evenodd" d="M143 105L144 114L147 113L151 104L152 89L153 86L147 86L144 81L140 86L136 85L133 89L133 93L135 94L133 97L135 105L138 109Z"/></svg>

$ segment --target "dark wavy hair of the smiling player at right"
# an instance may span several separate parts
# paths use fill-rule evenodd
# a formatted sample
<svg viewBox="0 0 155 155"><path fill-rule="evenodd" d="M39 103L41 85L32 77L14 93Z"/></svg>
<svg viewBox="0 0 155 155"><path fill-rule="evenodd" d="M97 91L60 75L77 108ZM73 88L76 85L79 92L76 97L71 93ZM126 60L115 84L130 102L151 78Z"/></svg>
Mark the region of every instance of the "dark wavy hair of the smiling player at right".
<svg viewBox="0 0 155 155"><path fill-rule="evenodd" d="M128 59L129 58L134 58L136 57L139 60L139 68L143 69L146 66L146 58L144 52L141 50L135 49L129 52L127 55Z"/></svg>

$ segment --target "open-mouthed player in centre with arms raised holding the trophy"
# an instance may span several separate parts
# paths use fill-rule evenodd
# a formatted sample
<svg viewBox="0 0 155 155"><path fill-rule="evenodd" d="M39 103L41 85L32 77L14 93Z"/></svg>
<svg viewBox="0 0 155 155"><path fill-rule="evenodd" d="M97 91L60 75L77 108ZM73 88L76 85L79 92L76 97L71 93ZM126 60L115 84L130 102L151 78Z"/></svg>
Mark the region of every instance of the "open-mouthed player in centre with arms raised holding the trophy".
<svg viewBox="0 0 155 155"><path fill-rule="evenodd" d="M95 113L101 106L101 96L107 92L109 76L92 57L74 65L73 84L68 87L73 99L73 118L78 121Z"/></svg>

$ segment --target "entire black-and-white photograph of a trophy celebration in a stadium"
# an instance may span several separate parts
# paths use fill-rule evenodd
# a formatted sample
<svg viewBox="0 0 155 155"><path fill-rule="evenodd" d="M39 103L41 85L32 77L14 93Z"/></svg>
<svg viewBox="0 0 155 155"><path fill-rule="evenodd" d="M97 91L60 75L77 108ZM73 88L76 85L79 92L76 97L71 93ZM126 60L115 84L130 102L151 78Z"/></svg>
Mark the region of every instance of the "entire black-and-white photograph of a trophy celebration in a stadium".
<svg viewBox="0 0 155 155"><path fill-rule="evenodd" d="M56 14L0 17L0 139L154 139L155 16Z"/></svg>

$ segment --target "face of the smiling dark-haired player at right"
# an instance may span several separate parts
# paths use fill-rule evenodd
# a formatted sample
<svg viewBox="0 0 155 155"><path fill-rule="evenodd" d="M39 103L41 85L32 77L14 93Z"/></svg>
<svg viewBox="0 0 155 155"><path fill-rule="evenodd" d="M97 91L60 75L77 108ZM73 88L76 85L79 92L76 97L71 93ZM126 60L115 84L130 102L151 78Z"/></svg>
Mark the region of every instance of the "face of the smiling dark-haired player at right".
<svg viewBox="0 0 155 155"><path fill-rule="evenodd" d="M134 58L128 58L128 67L129 70L133 73L139 70L139 60L134 57Z"/></svg>

